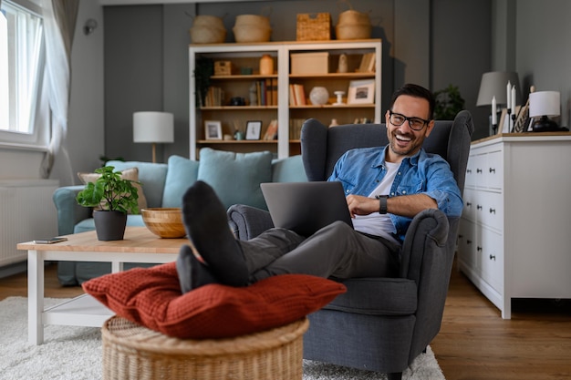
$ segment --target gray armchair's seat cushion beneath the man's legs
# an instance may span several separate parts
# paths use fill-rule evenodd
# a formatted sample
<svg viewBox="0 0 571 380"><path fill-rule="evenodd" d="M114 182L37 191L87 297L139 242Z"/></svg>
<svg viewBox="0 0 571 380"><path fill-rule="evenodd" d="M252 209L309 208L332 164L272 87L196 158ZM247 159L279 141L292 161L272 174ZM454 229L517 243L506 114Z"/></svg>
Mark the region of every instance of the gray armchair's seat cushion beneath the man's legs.
<svg viewBox="0 0 571 380"><path fill-rule="evenodd" d="M326 309L369 315L410 315L416 312L416 282L403 278L358 278L345 280L347 293Z"/></svg>

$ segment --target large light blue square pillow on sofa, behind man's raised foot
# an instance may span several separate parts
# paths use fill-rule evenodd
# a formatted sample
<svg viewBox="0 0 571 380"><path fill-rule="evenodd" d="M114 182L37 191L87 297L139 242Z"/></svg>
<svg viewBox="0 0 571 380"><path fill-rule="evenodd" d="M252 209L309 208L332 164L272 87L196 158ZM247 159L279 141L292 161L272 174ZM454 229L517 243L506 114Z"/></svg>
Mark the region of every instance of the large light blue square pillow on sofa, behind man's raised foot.
<svg viewBox="0 0 571 380"><path fill-rule="evenodd" d="M233 204L247 204L267 210L260 183L272 181L272 152L202 148L198 180L212 186L226 209Z"/></svg>

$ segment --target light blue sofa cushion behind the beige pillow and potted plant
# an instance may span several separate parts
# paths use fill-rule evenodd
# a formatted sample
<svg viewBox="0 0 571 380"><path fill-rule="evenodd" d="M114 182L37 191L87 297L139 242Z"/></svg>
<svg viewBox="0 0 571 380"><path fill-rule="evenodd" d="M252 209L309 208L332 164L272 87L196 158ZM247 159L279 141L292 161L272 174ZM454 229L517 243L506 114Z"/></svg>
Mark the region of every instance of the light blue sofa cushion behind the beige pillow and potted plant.
<svg viewBox="0 0 571 380"><path fill-rule="evenodd" d="M139 169L139 181L145 192L147 207L161 207L162 190L167 177L167 164L142 161L108 161L108 166L116 170Z"/></svg>

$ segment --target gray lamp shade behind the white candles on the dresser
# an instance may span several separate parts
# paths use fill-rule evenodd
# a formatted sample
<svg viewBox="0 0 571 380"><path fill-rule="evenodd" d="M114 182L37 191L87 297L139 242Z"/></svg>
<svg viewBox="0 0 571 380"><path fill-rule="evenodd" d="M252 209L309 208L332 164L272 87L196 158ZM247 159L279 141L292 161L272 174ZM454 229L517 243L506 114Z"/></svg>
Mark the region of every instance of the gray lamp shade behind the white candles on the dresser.
<svg viewBox="0 0 571 380"><path fill-rule="evenodd" d="M476 106L492 105L492 98L498 105L507 105L507 93L505 86L507 82L515 86L516 97L521 99L521 91L519 86L519 77L513 71L491 71L483 73L482 82L480 82L480 92L478 92L478 100Z"/></svg>

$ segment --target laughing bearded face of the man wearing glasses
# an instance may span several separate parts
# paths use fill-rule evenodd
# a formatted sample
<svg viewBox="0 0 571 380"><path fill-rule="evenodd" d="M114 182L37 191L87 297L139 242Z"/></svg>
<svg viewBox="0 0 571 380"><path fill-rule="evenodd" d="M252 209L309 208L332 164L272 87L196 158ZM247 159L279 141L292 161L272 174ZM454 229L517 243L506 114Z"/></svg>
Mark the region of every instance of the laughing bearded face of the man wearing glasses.
<svg viewBox="0 0 571 380"><path fill-rule="evenodd" d="M400 118L400 116L428 120L429 111L430 106L428 100L401 95L397 98L392 107L393 121ZM394 114L399 114L400 116L394 116ZM431 130L434 127L433 120L423 124L420 130L410 128L410 120L404 120L400 126L396 126L390 122L390 111L387 111L385 121L387 123L387 136L389 138L389 150L386 159L389 160L389 162L400 162L405 157L414 156L420 150L422 142L431 134Z"/></svg>

